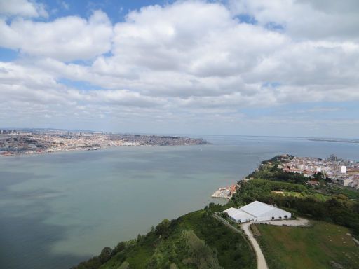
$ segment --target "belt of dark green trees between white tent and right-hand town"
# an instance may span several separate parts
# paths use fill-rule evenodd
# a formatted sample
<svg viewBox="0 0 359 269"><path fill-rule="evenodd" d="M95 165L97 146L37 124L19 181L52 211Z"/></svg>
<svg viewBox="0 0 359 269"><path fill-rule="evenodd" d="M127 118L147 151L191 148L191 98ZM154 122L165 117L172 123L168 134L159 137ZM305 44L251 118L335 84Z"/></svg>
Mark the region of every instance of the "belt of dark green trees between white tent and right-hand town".
<svg viewBox="0 0 359 269"><path fill-rule="evenodd" d="M278 165L280 156L273 158L271 162L263 162L259 170L248 175L250 180L238 182L241 188L231 199L233 205L241 206L259 200L284 207L294 215L346 226L353 235L359 236L358 191L329 185L322 180L320 174L317 177L322 178L322 184L312 188L305 184L307 178L283 172L278 169Z"/></svg>

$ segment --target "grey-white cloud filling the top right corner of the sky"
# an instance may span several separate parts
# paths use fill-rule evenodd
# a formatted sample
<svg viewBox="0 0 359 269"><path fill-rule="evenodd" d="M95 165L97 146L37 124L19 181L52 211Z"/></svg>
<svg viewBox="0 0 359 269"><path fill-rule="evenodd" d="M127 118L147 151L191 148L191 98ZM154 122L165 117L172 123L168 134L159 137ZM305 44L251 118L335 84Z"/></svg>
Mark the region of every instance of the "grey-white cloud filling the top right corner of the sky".
<svg viewBox="0 0 359 269"><path fill-rule="evenodd" d="M356 39L356 0L229 0L233 14L247 14L259 25L281 25L285 33L305 39Z"/></svg>

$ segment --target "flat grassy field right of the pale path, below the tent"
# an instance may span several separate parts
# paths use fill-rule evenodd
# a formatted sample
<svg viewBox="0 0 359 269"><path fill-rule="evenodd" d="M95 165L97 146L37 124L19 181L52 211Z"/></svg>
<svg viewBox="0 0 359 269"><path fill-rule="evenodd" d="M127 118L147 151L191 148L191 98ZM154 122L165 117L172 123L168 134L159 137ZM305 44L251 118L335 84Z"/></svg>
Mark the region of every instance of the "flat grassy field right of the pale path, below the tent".
<svg viewBox="0 0 359 269"><path fill-rule="evenodd" d="M359 247L348 229L321 221L309 228L257 225L269 268L359 268ZM340 267L337 267L340 268Z"/></svg>

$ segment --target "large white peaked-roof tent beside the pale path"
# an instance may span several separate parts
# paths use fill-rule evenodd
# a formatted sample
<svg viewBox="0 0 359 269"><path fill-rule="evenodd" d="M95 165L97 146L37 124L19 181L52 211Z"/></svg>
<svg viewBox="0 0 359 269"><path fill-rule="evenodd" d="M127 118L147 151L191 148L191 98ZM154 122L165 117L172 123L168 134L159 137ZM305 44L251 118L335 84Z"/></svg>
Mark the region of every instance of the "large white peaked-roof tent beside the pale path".
<svg viewBox="0 0 359 269"><path fill-rule="evenodd" d="M233 221L273 221L275 219L290 219L292 214L278 207L267 205L264 202L251 202L241 208L229 208L224 210Z"/></svg>

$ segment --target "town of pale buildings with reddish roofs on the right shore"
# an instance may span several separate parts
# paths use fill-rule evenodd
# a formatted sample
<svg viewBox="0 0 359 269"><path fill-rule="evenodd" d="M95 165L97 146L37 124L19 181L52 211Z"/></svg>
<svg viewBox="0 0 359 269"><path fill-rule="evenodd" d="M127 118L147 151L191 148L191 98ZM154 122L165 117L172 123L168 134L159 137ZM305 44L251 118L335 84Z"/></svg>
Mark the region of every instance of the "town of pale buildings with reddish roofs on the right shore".
<svg viewBox="0 0 359 269"><path fill-rule="evenodd" d="M299 173L305 177L314 177L316 173L322 172L334 184L359 189L359 163L353 160L344 160L334 155L325 159L292 157L278 167L285 172Z"/></svg>

